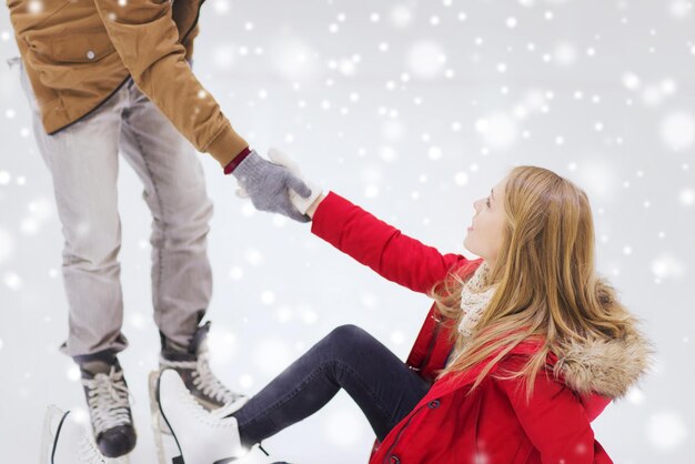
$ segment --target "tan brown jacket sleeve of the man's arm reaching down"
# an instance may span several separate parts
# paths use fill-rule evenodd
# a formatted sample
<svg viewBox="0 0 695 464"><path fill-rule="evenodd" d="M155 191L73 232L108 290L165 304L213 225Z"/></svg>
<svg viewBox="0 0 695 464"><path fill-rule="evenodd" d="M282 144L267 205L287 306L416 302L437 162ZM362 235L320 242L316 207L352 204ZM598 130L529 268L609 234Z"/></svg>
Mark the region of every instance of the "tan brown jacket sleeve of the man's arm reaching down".
<svg viewBox="0 0 695 464"><path fill-rule="evenodd" d="M138 88L199 151L209 152L224 167L248 147L185 61L170 1L94 3Z"/></svg>

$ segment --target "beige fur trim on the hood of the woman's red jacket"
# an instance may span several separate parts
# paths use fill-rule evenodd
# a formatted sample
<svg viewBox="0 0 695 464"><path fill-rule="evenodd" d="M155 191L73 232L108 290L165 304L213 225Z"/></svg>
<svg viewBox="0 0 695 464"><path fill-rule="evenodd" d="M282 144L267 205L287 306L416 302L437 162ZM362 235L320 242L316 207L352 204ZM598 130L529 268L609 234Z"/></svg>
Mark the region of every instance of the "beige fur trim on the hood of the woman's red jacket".
<svg viewBox="0 0 695 464"><path fill-rule="evenodd" d="M556 353L555 373L580 394L597 393L611 399L624 396L652 364L652 343L633 321L621 339L574 342Z"/></svg>

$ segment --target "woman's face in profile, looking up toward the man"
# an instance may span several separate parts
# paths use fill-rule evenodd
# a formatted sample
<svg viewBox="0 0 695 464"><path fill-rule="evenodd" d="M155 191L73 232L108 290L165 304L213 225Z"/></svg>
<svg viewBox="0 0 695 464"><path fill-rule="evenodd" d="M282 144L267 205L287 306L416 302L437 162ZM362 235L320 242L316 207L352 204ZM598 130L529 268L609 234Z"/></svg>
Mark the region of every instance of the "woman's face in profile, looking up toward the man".
<svg viewBox="0 0 695 464"><path fill-rule="evenodd" d="M506 214L504 213L504 185L506 179L492 188L490 196L473 203L475 215L463 245L490 264L494 264L502 249Z"/></svg>

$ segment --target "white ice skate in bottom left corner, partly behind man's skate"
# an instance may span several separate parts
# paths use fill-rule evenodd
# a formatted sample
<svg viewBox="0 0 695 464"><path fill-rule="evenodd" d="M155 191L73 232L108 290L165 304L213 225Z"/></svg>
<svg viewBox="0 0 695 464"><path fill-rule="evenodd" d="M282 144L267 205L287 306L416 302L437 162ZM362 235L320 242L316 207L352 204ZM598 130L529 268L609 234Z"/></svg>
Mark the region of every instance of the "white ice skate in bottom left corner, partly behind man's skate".
<svg viewBox="0 0 695 464"><path fill-rule="evenodd" d="M128 456L108 460L70 411L50 405L43 421L40 464L128 464Z"/></svg>

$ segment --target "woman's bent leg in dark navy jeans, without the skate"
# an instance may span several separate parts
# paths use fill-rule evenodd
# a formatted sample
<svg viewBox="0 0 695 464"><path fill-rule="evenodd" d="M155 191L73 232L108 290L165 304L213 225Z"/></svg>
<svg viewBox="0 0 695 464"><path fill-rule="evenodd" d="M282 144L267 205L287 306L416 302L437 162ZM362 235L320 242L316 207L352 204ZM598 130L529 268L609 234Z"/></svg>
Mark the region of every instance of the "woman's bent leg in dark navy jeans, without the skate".
<svg viewBox="0 0 695 464"><path fill-rule="evenodd" d="M430 384L354 325L335 329L233 415L251 446L323 407L344 389L383 440Z"/></svg>

